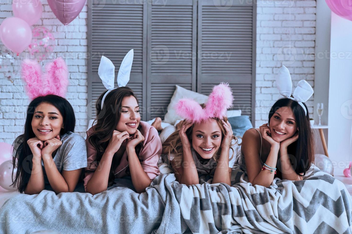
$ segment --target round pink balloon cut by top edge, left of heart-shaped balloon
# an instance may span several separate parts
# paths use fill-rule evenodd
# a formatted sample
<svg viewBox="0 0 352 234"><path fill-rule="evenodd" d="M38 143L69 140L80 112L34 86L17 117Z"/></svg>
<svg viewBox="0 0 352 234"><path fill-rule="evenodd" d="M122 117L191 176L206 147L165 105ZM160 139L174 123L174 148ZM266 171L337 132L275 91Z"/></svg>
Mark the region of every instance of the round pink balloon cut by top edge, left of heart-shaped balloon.
<svg viewBox="0 0 352 234"><path fill-rule="evenodd" d="M42 3L39 0L13 0L12 11L15 17L26 21L30 26L42 17Z"/></svg>

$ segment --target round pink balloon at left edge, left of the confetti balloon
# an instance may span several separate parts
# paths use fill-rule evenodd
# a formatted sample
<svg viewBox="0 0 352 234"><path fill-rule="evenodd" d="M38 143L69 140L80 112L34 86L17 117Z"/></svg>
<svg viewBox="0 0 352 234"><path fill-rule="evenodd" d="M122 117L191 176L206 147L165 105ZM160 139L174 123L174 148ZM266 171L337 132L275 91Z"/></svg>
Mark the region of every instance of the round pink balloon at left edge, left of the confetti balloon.
<svg viewBox="0 0 352 234"><path fill-rule="evenodd" d="M9 17L0 25L0 39L7 48L19 54L31 43L32 30L23 19Z"/></svg>

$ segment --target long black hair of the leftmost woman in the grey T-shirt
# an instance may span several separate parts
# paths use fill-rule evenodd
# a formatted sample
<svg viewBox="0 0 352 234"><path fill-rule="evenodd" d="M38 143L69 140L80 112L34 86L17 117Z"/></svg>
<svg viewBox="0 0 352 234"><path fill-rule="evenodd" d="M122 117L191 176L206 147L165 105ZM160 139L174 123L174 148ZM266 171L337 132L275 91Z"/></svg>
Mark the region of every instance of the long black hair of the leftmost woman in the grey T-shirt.
<svg viewBox="0 0 352 234"><path fill-rule="evenodd" d="M18 191L23 193L27 187L28 181L32 173L32 159L33 154L27 143L27 140L36 137L32 129L32 119L34 111L40 103L49 103L55 106L62 115L64 128L61 129L60 134L67 132L74 132L76 125L75 112L71 104L61 96L49 94L46 96L39 96L34 98L27 107L26 122L24 125L24 133L19 135L13 142L12 146L16 150L15 157L12 159L14 168L17 168L16 177L12 185L17 186ZM17 147L17 148L15 148ZM17 158L17 159L16 159ZM12 170L12 175L14 170Z"/></svg>

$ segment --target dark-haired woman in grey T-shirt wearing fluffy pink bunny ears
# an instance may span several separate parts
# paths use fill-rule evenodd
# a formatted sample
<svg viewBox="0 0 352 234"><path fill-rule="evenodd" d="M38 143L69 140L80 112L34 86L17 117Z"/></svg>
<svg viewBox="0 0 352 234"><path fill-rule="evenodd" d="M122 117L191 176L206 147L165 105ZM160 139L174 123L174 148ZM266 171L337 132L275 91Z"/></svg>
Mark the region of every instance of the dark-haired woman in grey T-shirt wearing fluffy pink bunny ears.
<svg viewBox="0 0 352 234"><path fill-rule="evenodd" d="M73 192L87 166L84 138L74 133L75 114L63 98L68 69L62 58L46 65L42 75L36 62L24 60L21 76L32 100L27 108L24 134L13 143L13 186L26 194L44 189Z"/></svg>

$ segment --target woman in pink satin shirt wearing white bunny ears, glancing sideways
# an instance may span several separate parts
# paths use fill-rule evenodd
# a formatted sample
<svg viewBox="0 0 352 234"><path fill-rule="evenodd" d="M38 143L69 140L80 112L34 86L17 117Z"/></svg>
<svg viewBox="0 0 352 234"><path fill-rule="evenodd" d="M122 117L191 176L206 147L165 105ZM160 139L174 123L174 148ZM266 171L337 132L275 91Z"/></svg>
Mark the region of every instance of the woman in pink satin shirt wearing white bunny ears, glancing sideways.
<svg viewBox="0 0 352 234"><path fill-rule="evenodd" d="M87 161L84 177L86 192L103 192L114 180L131 180L129 186L141 193L160 174L157 166L161 155L158 131L140 121L138 99L125 87L130 80L133 61L131 49L121 62L114 88L115 67L102 56L98 74L108 89L96 102L95 125L87 131Z"/></svg>

